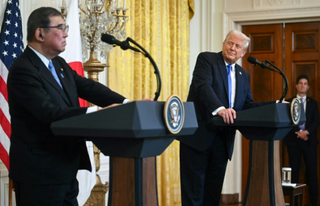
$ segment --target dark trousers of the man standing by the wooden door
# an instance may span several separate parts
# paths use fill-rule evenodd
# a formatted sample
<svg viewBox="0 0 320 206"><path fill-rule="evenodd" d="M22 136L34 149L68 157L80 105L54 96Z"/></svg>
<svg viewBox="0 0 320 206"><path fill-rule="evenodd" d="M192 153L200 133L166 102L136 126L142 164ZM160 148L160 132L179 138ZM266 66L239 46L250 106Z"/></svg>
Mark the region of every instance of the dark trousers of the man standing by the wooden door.
<svg viewBox="0 0 320 206"><path fill-rule="evenodd" d="M317 176L317 145L310 145L309 141L301 140L296 146L287 146L289 165L292 169L292 183L299 183L299 172L301 168L301 157L306 164L307 184L309 185L309 196L312 205L318 202L318 176ZM297 202L297 198L295 200Z"/></svg>

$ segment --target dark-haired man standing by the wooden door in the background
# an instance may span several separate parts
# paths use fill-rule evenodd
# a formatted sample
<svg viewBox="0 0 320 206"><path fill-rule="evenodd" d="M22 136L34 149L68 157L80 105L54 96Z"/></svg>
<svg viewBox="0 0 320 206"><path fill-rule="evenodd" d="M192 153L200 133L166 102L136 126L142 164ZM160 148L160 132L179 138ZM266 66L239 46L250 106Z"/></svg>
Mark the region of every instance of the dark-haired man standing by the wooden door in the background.
<svg viewBox="0 0 320 206"><path fill-rule="evenodd" d="M296 126L290 130L284 137L284 144L287 146L289 155L289 165L292 168L291 182L299 183L299 171L301 166L301 157L306 163L306 176L309 185L310 203L317 205L318 202L318 172L317 172L317 147L319 126L318 103L307 96L309 90L308 76L299 76L297 78L297 95L288 99L292 102L298 98L306 112L306 123L302 126ZM296 198L296 204L298 199Z"/></svg>

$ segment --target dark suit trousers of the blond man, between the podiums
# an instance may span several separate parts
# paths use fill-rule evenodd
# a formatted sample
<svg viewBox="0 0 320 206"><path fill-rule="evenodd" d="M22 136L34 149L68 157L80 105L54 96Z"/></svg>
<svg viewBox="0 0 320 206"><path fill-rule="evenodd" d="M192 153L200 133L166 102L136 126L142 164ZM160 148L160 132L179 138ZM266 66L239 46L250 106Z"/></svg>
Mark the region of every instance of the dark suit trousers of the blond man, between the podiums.
<svg viewBox="0 0 320 206"><path fill-rule="evenodd" d="M180 142L182 206L219 206L227 163L222 135L216 135L202 152Z"/></svg>

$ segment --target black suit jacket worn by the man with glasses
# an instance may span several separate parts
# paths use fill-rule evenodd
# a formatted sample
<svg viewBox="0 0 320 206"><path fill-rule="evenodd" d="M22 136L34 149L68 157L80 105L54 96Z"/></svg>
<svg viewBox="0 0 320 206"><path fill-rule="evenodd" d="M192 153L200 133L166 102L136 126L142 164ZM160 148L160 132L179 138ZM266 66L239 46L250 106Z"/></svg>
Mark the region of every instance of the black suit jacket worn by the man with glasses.
<svg viewBox="0 0 320 206"><path fill-rule="evenodd" d="M10 173L14 181L32 184L67 183L79 169L91 170L85 141L53 135L50 124L85 114L78 98L98 106L122 103L122 95L103 84L78 76L63 58L52 59L63 89L39 56L27 47L8 76L11 115Z"/></svg>

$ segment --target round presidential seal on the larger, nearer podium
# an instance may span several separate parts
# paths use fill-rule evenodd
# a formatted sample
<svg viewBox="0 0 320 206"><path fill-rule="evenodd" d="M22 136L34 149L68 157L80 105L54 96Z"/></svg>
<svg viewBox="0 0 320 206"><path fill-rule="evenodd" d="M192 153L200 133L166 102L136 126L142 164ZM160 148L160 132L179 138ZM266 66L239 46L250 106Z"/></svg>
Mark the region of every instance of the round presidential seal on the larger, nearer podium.
<svg viewBox="0 0 320 206"><path fill-rule="evenodd" d="M177 95L171 95L164 104L164 124L170 133L177 134L184 122L184 107Z"/></svg>

